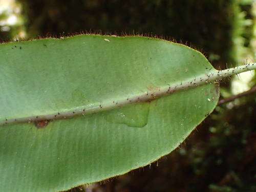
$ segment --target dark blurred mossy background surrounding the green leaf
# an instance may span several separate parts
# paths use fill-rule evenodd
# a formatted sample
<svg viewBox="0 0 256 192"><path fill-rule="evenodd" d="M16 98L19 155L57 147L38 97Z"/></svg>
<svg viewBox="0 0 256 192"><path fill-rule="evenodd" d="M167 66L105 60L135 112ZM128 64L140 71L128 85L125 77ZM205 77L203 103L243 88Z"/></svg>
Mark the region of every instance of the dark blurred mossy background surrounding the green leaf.
<svg viewBox="0 0 256 192"><path fill-rule="evenodd" d="M252 0L0 0L0 41L143 34L182 42L226 69L255 61L255 15ZM255 82L253 72L225 80L221 97ZM217 106L158 162L70 191L256 191L256 94Z"/></svg>

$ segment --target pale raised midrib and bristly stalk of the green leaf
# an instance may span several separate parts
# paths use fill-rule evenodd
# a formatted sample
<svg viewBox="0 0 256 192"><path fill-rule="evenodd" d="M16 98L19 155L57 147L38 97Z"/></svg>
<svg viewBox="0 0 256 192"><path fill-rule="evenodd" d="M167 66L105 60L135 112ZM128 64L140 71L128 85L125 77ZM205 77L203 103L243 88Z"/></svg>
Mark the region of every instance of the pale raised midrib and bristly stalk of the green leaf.
<svg viewBox="0 0 256 192"><path fill-rule="evenodd" d="M88 115L92 113L97 113L101 111L112 110L126 104L137 103L137 102L150 102L151 100L172 94L174 92L180 90L186 90L193 87L201 86L205 83L218 83L218 79L225 78L227 76L242 73L245 71L255 70L256 63L249 63L247 65L238 66L235 68L230 68L226 70L216 70L213 69L209 73L201 74L193 79L187 79L183 82L173 82L170 84L166 84L165 86L159 87L157 91L155 90L147 90L144 93L138 93L130 98L119 98L113 101L103 101L102 103L98 103L95 106L79 106L74 110L66 111L66 112L56 112L55 114L49 115L37 115L23 118L12 118L12 119L2 119L0 120L0 124L7 123L20 123L20 122L32 122L39 120L53 120L59 118L71 118L78 115Z"/></svg>

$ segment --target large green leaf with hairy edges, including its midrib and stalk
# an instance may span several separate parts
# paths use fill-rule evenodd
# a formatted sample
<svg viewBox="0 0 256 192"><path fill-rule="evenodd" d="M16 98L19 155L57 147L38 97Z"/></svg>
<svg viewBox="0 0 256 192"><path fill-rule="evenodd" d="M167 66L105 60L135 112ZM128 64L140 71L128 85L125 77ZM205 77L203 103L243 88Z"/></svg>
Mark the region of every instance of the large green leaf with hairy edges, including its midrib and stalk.
<svg viewBox="0 0 256 192"><path fill-rule="evenodd" d="M139 36L10 42L0 57L1 191L66 190L156 161L214 110L206 82L230 75Z"/></svg>

